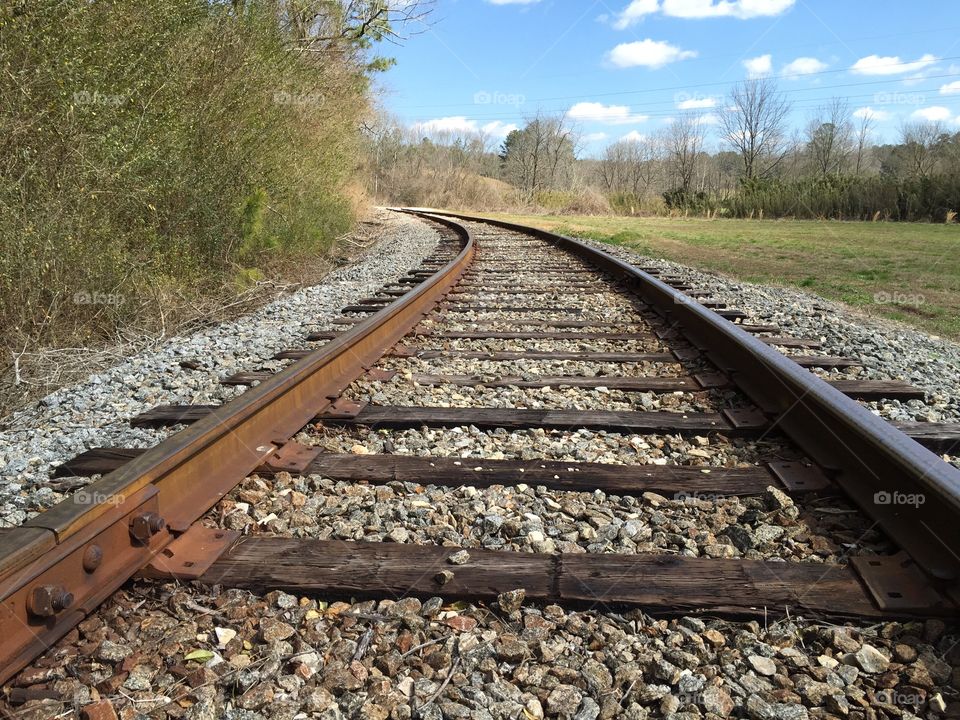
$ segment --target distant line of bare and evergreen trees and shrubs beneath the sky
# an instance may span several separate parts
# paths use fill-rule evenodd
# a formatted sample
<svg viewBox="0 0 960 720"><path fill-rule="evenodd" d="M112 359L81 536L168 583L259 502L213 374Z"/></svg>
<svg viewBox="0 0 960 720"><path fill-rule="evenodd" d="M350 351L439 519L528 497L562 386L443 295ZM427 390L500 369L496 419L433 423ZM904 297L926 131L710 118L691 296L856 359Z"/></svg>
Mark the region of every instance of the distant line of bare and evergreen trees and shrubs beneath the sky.
<svg viewBox="0 0 960 720"><path fill-rule="evenodd" d="M735 85L715 112L681 113L656 133L609 144L596 159L582 157L581 138L564 115L537 114L499 146L474 133L438 137L394 122L396 147L372 172L391 175L393 185L409 177L410 163L421 177L456 176L435 199L464 206L955 219L960 133L938 122L908 122L897 142L878 145L873 117L855 115L842 98L810 113L799 129L792 111L774 80L751 79ZM712 151L711 136L718 140Z"/></svg>

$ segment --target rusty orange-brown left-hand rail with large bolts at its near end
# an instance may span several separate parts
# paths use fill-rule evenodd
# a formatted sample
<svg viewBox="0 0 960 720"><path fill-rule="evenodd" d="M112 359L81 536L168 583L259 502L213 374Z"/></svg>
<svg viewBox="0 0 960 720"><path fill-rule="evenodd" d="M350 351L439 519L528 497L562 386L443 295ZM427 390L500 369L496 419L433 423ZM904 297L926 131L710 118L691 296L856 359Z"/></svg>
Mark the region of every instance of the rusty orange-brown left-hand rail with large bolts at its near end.
<svg viewBox="0 0 960 720"><path fill-rule="evenodd" d="M412 330L475 253L208 417L22 526L0 531L0 683L164 552Z"/></svg>

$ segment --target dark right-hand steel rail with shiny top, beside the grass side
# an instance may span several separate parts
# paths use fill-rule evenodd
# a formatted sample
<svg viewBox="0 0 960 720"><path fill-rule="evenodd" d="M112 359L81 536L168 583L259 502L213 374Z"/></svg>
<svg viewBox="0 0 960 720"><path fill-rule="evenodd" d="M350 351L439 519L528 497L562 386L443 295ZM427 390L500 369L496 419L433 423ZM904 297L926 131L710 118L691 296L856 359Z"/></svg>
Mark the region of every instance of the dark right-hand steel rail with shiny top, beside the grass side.
<svg viewBox="0 0 960 720"><path fill-rule="evenodd" d="M960 599L960 470L787 356L653 275L573 238L463 213L546 240L617 277L676 327L921 567Z"/></svg>

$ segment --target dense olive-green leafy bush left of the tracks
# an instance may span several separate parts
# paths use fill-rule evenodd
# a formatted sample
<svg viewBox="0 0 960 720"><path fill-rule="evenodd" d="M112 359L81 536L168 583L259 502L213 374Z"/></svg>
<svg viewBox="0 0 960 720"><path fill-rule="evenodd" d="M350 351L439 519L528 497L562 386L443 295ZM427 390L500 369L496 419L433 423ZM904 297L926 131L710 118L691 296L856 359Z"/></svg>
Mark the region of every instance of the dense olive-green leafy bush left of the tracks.
<svg viewBox="0 0 960 720"><path fill-rule="evenodd" d="M110 337L149 288L216 288L350 226L366 70L294 51L276 13L0 9L0 319L16 343Z"/></svg>

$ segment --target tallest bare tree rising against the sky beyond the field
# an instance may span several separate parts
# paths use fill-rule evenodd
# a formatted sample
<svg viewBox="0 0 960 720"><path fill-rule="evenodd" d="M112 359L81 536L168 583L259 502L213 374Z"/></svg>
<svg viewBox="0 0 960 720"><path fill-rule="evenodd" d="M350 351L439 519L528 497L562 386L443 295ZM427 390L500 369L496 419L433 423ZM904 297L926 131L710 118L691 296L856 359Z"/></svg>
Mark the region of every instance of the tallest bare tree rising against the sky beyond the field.
<svg viewBox="0 0 960 720"><path fill-rule="evenodd" d="M745 80L730 91L720 112L723 139L740 154L747 179L770 175L790 148L790 103L770 78Z"/></svg>

